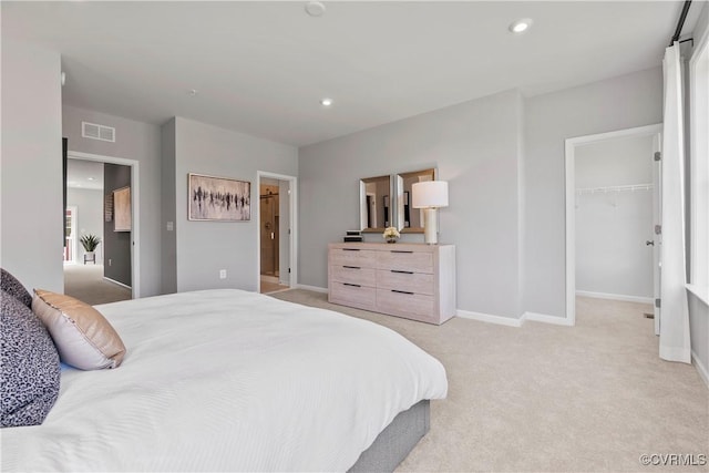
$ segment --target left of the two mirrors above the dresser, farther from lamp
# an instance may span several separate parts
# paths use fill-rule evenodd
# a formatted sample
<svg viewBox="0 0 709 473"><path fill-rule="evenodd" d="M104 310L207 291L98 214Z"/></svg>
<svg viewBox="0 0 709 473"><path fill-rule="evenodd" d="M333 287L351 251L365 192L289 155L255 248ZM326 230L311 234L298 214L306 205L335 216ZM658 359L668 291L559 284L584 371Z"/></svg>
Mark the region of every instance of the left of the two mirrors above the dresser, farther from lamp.
<svg viewBox="0 0 709 473"><path fill-rule="evenodd" d="M359 207L362 232L383 232L392 225L391 176L360 179Z"/></svg>

